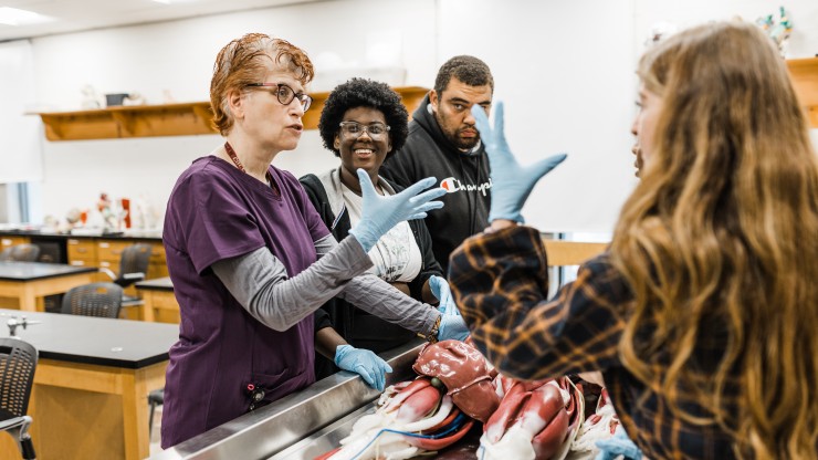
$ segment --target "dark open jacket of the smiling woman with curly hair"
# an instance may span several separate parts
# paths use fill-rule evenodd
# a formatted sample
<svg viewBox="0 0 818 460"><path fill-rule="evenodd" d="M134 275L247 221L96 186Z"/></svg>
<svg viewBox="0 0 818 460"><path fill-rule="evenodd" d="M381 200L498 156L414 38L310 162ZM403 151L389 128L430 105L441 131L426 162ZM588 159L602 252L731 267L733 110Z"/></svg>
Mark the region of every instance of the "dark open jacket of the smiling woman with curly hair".
<svg viewBox="0 0 818 460"><path fill-rule="evenodd" d="M298 180L304 186L310 201L315 206L322 220L333 232L335 239L340 241L347 237L352 224L349 213L345 210L339 212L340 216L336 216L339 208L338 201L343 202L344 199L339 192L332 190L332 178L335 177L336 188L339 180L336 171L337 169L333 169L322 175L321 178L310 174ZM402 187L381 178L381 186L385 184L396 192L402 190ZM442 271L432 254L431 238L423 220L410 220L409 227L412 229L415 241L417 241L420 254L423 258L420 273L409 283L409 291L413 299L422 302L421 292L426 280L436 274L442 276ZM335 327L338 334L354 347L371 349L375 353L402 345L416 336L412 332L356 309L342 299L331 300L315 314L315 331L329 326ZM332 363L316 356L316 379L336 372L337 368Z"/></svg>

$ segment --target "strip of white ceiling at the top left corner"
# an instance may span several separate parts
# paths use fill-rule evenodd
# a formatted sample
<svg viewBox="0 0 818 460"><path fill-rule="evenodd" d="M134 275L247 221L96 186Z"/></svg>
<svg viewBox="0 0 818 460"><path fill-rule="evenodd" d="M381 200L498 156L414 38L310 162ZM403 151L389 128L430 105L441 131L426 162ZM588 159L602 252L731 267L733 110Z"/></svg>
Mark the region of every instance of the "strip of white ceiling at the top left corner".
<svg viewBox="0 0 818 460"><path fill-rule="evenodd" d="M318 0L170 0L165 4L153 0L0 0L0 7L54 19L30 25L0 24L0 42L315 1Z"/></svg>

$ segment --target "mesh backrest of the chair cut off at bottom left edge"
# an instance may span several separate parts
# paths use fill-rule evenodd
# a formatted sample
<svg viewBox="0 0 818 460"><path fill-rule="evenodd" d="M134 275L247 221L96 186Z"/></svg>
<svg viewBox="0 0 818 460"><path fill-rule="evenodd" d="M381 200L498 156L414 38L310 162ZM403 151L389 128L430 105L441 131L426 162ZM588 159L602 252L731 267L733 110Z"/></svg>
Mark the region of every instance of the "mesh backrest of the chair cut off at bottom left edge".
<svg viewBox="0 0 818 460"><path fill-rule="evenodd" d="M35 368L36 348L19 338L0 338L0 420L29 410Z"/></svg>

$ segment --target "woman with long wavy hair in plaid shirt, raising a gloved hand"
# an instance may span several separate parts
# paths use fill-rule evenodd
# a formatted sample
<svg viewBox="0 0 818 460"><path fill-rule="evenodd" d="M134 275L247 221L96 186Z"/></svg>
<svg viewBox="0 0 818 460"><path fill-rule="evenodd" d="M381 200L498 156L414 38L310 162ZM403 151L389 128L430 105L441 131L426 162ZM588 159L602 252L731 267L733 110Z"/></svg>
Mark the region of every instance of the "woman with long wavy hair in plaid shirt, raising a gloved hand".
<svg viewBox="0 0 818 460"><path fill-rule="evenodd" d="M472 337L514 377L601 370L652 460L815 459L818 160L786 66L755 25L722 22L638 74L642 180L609 251L550 302L539 233L516 223L554 165L521 167L502 109L480 117L492 223L450 269Z"/></svg>

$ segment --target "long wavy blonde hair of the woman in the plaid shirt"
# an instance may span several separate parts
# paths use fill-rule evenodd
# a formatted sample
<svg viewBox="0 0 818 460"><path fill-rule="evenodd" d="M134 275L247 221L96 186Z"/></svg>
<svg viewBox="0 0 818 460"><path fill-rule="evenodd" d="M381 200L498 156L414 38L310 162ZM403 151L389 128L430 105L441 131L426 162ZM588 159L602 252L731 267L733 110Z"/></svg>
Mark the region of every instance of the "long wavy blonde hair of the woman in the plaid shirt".
<svg viewBox="0 0 818 460"><path fill-rule="evenodd" d="M635 293L622 363L736 456L815 459L818 160L786 65L755 25L721 22L658 44L638 73L663 108L611 244ZM727 345L702 381L689 369L712 333ZM712 416L682 409L679 388Z"/></svg>

